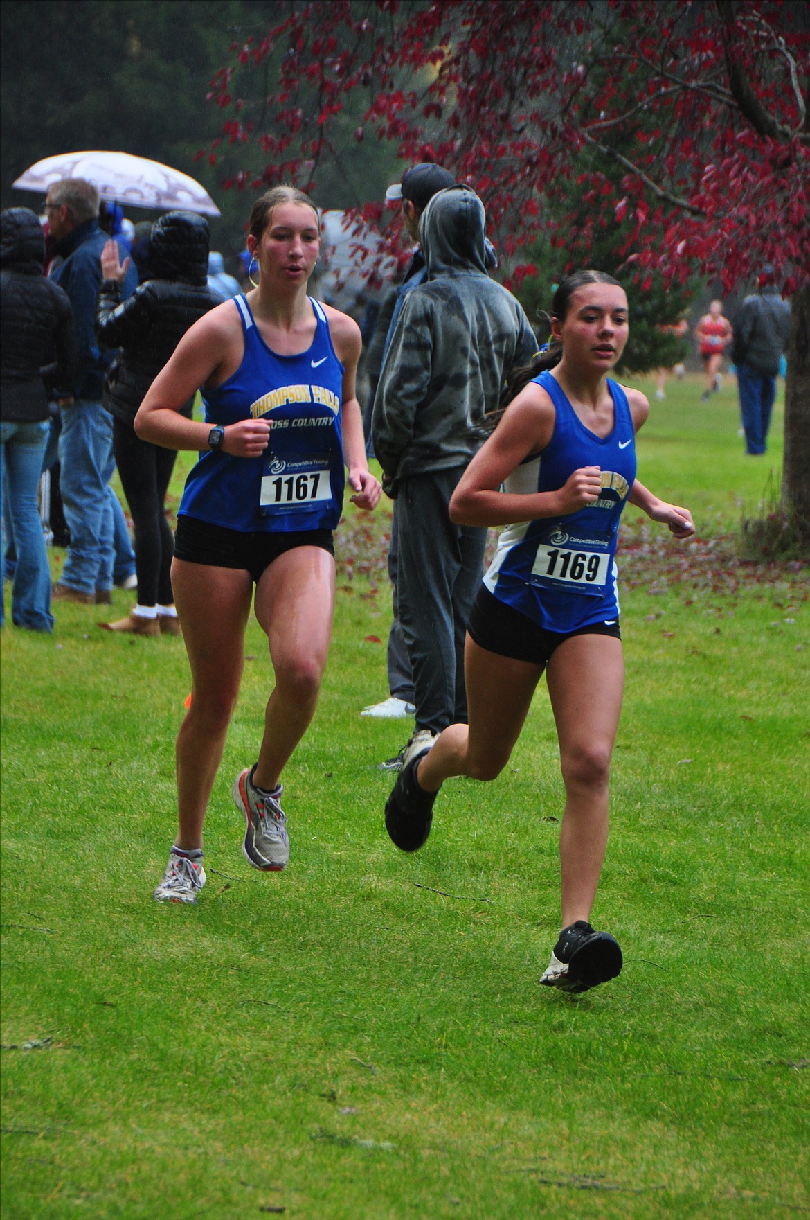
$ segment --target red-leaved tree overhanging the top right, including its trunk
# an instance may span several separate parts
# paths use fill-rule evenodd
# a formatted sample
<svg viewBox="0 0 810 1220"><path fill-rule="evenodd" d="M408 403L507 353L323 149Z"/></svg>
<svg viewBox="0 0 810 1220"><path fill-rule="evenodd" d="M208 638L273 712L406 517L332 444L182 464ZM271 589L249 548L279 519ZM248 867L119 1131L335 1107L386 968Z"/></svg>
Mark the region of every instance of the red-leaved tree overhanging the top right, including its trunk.
<svg viewBox="0 0 810 1220"><path fill-rule="evenodd" d="M699 271L731 290L771 264L793 296L783 498L810 521L808 6L292 0L232 51L211 96L228 111L224 135L257 145L263 168L228 184L312 189L361 98L353 138L393 142L475 185L518 281L538 232L568 240L559 203L572 190L589 205L578 248L625 222L621 253L642 283ZM245 71L262 68L251 109Z"/></svg>

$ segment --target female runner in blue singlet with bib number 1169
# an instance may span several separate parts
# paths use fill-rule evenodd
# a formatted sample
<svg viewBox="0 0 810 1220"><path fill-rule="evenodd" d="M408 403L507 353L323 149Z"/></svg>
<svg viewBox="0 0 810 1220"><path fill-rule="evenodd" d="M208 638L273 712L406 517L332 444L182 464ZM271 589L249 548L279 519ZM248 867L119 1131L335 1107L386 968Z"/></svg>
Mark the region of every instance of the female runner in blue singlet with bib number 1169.
<svg viewBox="0 0 810 1220"><path fill-rule="evenodd" d="M406 755L385 825L398 847L416 850L429 834L444 780L494 780L545 670L566 803L562 931L540 982L581 992L622 965L615 938L589 924L625 682L614 564L618 517L629 501L676 538L694 525L687 509L665 504L636 479L634 434L649 404L608 377L627 342L621 284L599 271L570 276L554 295L551 336L548 355L516 373L523 388L450 501L457 523L506 526L470 617L470 723L451 725L432 748Z"/></svg>

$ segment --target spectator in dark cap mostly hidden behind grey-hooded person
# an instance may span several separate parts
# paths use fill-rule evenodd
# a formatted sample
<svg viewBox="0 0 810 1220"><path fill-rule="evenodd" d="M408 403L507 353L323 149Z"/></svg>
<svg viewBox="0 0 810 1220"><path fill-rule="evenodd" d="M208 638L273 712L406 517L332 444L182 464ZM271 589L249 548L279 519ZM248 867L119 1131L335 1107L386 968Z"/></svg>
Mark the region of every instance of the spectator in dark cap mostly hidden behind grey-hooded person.
<svg viewBox="0 0 810 1220"><path fill-rule="evenodd" d="M427 274L425 255L418 246L420 217L429 201L433 199L433 195L435 195L439 190L445 190L448 187L455 187L455 178L450 171L444 170L440 165L432 165L428 161L423 161L420 165L412 166L405 173L401 183L395 182L385 192L385 199L401 199L403 224L405 227L405 232L411 240L417 244L411 254L410 261L405 268L405 274L403 276L400 283L393 287L383 299L379 315L377 317L377 329L368 346L366 371L370 379L370 409L365 423L365 431L367 434L371 431L371 418L373 414L377 386L379 382L379 373L385 356L388 355L388 349L390 348L396 322L399 321L399 315L403 311L403 305L405 304L409 293L412 293L415 288L418 288L420 284L425 282L425 276ZM390 540L388 543L388 578L392 586L393 611L390 631L388 633L387 655L389 697L382 703L371 704L370 706L364 708L360 714L361 716L399 719L404 716L412 716L416 710L414 703L415 695L411 662L399 621L399 606L396 599L398 565L396 500L394 500ZM390 764L395 766L398 765L398 761L399 758L392 759ZM383 766L385 764L383 764Z"/></svg>

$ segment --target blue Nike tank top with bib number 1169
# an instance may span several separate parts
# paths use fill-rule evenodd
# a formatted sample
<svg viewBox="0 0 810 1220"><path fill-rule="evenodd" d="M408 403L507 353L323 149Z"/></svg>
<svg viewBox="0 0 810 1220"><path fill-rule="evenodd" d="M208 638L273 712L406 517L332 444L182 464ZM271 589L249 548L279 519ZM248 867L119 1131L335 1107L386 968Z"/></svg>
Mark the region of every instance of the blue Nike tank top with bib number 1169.
<svg viewBox="0 0 810 1220"><path fill-rule="evenodd" d="M484 584L496 598L547 631L570 632L618 617L618 518L636 479L636 432L625 390L608 381L614 427L606 437L586 428L549 372L534 378L556 411L554 434L539 458L518 466L506 492L555 492L575 470L599 466L601 494L560 517L506 526Z"/></svg>

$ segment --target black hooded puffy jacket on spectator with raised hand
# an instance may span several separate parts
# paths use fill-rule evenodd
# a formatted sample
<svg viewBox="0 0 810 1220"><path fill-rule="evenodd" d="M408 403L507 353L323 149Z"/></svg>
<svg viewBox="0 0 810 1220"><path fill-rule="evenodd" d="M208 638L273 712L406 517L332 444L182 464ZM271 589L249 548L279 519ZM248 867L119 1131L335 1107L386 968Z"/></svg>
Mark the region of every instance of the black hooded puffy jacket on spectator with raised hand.
<svg viewBox="0 0 810 1220"><path fill-rule="evenodd" d="M149 279L121 301L121 285L105 279L95 333L105 348L121 348L107 375L104 405L132 425L146 390L185 332L222 299L207 285L209 226L193 212L167 212L152 224ZM183 409L192 414L193 400Z"/></svg>

